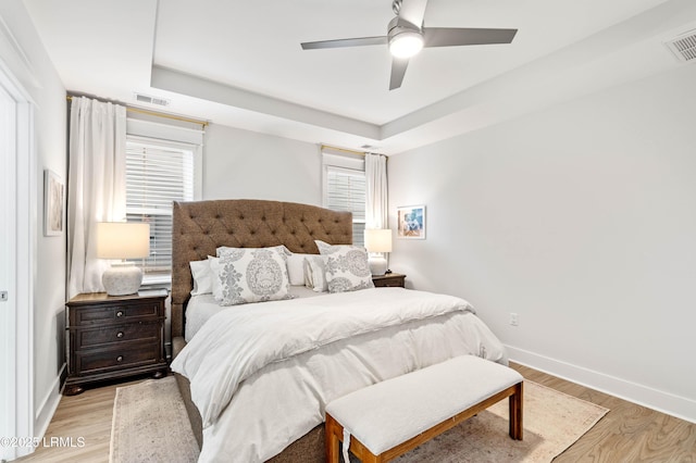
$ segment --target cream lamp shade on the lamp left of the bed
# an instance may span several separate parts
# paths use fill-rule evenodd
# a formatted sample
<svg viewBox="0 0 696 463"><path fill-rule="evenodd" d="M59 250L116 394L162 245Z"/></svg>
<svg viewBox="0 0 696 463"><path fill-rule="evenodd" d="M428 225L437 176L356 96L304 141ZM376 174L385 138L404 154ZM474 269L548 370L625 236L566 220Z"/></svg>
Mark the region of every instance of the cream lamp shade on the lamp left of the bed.
<svg viewBox="0 0 696 463"><path fill-rule="evenodd" d="M140 259L150 253L150 225L127 222L97 223L97 258Z"/></svg>

